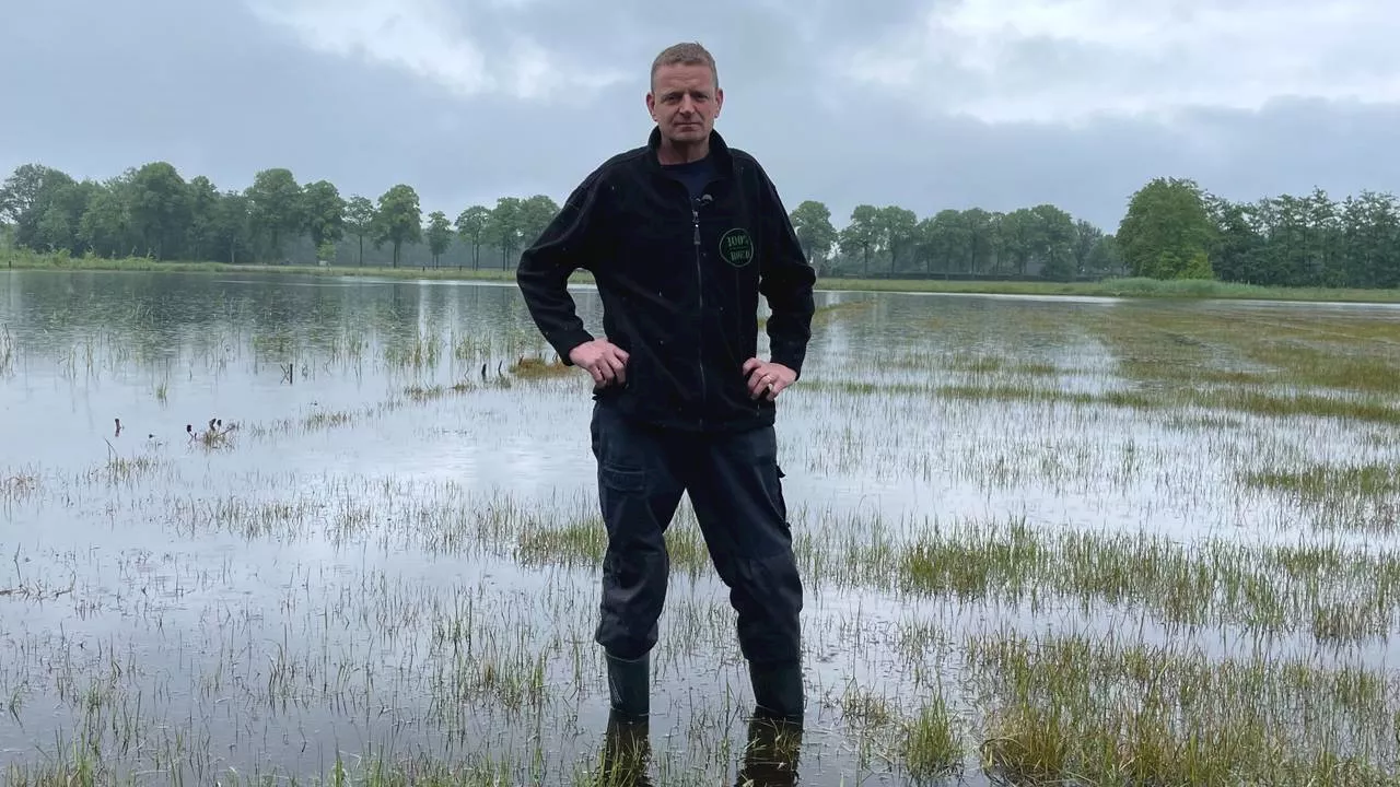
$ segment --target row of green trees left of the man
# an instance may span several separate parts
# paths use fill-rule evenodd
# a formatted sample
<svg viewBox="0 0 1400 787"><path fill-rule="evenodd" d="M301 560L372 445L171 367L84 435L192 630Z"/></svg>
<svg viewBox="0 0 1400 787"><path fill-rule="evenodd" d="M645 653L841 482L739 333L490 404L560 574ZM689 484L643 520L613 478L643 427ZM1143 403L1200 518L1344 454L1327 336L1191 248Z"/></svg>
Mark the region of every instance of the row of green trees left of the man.
<svg viewBox="0 0 1400 787"><path fill-rule="evenodd" d="M241 192L220 190L203 175L185 181L164 161L108 181L22 164L0 186L0 220L14 225L18 246L158 260L333 262L350 252L365 265L367 251L386 246L386 262L398 267L406 251L423 251L438 265L458 244L470 251L473 267L482 267L483 251L498 252L505 267L557 211L545 195L510 196L454 218L434 210L424 220L417 190L405 183L371 202L270 168ZM385 262L374 256L371 263Z"/></svg>

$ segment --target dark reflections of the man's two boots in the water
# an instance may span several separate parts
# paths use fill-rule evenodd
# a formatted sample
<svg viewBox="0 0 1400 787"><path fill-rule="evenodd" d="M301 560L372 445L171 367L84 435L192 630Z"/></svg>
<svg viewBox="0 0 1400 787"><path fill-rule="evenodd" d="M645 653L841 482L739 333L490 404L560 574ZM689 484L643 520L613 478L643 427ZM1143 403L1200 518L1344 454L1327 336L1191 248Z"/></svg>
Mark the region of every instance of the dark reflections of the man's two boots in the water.
<svg viewBox="0 0 1400 787"><path fill-rule="evenodd" d="M788 721L753 718L735 787L788 787L797 784L802 727ZM650 727L629 724L616 714L608 718L598 787L652 787L647 774L651 758Z"/></svg>

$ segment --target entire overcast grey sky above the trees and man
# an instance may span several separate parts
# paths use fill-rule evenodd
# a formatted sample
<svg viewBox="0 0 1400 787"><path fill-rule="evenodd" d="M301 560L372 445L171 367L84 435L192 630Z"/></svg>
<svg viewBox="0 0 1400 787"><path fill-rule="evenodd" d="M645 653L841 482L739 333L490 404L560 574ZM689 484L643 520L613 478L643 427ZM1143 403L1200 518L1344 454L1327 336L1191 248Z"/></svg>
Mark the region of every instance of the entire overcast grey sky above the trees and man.
<svg viewBox="0 0 1400 787"><path fill-rule="evenodd" d="M1397 189L1392 0L10 0L0 169L288 167L424 213L564 195L651 129L655 53L699 39L718 129L791 209L1012 210L1109 231L1189 176L1254 199ZM1400 189L1397 189L1400 190Z"/></svg>

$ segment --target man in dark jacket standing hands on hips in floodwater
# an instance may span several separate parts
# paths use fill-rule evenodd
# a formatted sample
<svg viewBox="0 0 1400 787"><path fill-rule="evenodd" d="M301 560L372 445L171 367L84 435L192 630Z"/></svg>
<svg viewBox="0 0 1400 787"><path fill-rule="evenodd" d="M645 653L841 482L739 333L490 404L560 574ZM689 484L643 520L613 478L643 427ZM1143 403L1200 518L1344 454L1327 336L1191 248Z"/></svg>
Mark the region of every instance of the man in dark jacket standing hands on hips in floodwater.
<svg viewBox="0 0 1400 787"><path fill-rule="evenodd" d="M592 452L608 529L596 641L612 709L650 713L650 653L666 595L664 532L689 493L738 612L756 716L801 723L802 583L783 499L776 401L802 371L815 272L777 189L714 130L724 104L697 43L652 63L647 144L589 174L521 255L531 316L594 378ZM566 290L592 273L605 337ZM771 358L756 357L770 305Z"/></svg>

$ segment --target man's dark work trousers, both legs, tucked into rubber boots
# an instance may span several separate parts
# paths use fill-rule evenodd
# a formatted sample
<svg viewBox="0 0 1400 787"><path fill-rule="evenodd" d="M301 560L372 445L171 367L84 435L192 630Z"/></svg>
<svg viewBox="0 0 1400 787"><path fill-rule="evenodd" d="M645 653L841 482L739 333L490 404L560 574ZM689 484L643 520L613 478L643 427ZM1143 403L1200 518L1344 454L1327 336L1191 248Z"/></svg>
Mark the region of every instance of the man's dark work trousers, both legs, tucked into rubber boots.
<svg viewBox="0 0 1400 787"><path fill-rule="evenodd" d="M729 588L743 657L763 665L798 662L802 581L774 429L671 431L595 403L591 433L608 529L598 644L619 658L657 644L671 570L664 534L687 493Z"/></svg>

